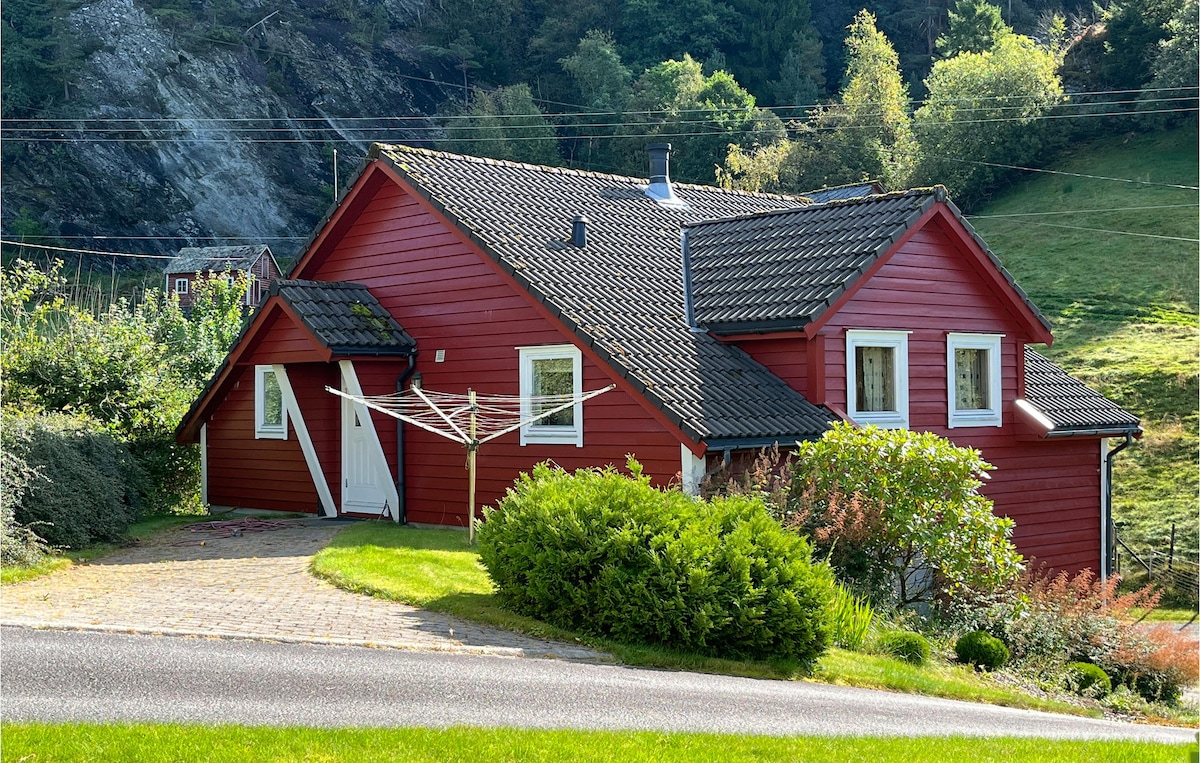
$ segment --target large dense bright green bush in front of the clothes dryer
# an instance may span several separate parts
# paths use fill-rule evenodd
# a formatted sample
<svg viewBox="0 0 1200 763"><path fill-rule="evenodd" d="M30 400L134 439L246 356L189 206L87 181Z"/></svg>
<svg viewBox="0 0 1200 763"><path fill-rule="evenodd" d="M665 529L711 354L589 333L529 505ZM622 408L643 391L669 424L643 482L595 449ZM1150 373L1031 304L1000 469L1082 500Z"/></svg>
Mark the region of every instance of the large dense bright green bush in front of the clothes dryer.
<svg viewBox="0 0 1200 763"><path fill-rule="evenodd" d="M834 584L809 545L761 500L698 500L629 469L521 475L479 533L504 605L625 643L811 666Z"/></svg>

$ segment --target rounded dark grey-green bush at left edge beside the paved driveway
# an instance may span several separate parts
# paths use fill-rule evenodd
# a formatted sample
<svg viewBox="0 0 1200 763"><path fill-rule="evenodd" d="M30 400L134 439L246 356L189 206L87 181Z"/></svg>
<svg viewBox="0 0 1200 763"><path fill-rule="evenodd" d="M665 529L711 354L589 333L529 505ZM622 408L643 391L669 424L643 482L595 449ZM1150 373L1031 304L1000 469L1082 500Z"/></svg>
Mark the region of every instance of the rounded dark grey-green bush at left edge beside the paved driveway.
<svg viewBox="0 0 1200 763"><path fill-rule="evenodd" d="M6 506L50 546L119 540L138 518L140 469L88 419L5 414L0 450L5 461L23 462L29 475L20 492L5 494Z"/></svg>

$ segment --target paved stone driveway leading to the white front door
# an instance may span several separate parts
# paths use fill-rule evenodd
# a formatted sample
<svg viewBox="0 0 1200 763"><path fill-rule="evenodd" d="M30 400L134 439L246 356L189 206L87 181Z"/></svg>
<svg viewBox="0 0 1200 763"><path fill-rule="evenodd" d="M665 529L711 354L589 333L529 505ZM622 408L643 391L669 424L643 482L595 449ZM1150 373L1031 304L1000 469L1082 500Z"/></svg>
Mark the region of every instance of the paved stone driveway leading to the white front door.
<svg viewBox="0 0 1200 763"><path fill-rule="evenodd" d="M313 577L313 554L343 527L302 519L233 537L204 537L186 528L160 533L90 564L5 585L0 623L512 656L606 656L347 593Z"/></svg>

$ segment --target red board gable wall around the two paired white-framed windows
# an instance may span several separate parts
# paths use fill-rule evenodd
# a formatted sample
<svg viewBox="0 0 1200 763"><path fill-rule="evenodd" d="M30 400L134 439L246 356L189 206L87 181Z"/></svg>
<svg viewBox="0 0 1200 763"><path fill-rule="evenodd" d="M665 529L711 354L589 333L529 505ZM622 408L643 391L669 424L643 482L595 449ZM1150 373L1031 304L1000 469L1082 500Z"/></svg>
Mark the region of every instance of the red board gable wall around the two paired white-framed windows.
<svg viewBox="0 0 1200 763"><path fill-rule="evenodd" d="M910 428L947 437L976 447L996 467L983 493L996 504L996 513L1016 521L1014 541L1026 557L1050 566L1098 569L1100 559L1099 443L1084 440L1030 440L1014 416L1019 396L1018 362L1028 341L1009 307L959 252L941 221L906 241L858 290L826 326L826 395L830 405L846 407L846 329L908 330ZM948 391L946 335L948 332L1003 334L1001 384L1002 427L947 428ZM746 352L763 360L791 384L803 379L796 362L803 358L787 342L745 342ZM763 349L757 349L758 347ZM785 362L788 358L796 362ZM796 386L808 393L805 386Z"/></svg>

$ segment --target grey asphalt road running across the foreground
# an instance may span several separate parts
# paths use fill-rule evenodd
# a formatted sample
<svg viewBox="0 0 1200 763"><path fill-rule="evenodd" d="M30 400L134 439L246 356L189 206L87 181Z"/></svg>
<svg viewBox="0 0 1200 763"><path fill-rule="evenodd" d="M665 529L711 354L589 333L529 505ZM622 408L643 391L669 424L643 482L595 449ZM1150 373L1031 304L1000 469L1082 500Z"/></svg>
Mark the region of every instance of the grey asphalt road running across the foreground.
<svg viewBox="0 0 1200 763"><path fill-rule="evenodd" d="M613 665L0 629L7 721L506 726L1186 743L1134 726L910 695Z"/></svg>

